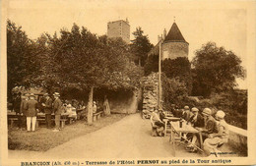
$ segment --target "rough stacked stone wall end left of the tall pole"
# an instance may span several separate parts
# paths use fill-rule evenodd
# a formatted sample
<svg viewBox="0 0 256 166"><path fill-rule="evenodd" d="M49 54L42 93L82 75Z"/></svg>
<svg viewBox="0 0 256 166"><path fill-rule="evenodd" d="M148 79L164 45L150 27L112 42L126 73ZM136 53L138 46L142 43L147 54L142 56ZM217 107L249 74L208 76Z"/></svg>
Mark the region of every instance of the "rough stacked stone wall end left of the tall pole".
<svg viewBox="0 0 256 166"><path fill-rule="evenodd" d="M158 73L154 73L142 79L143 112L153 112L158 106L158 77Z"/></svg>

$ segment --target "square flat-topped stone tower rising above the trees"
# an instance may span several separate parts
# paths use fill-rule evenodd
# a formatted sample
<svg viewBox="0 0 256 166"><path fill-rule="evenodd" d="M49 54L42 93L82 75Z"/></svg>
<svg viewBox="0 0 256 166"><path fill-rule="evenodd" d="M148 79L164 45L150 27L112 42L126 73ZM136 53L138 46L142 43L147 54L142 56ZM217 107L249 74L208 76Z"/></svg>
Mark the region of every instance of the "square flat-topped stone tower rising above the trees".
<svg viewBox="0 0 256 166"><path fill-rule="evenodd" d="M130 42L130 25L128 20L107 23L107 36L109 38L121 37L126 43Z"/></svg>

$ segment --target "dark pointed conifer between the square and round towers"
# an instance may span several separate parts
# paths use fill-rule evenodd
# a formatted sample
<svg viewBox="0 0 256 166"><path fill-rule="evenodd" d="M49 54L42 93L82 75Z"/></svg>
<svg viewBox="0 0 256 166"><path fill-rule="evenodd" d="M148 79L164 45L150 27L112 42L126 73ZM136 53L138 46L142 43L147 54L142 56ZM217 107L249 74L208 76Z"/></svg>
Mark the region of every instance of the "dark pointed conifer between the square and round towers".
<svg viewBox="0 0 256 166"><path fill-rule="evenodd" d="M132 53L135 56L135 61L139 66L144 66L148 57L149 51L153 48L153 44L150 43L148 35L143 35L142 28L136 28L133 32L135 37L131 44Z"/></svg>

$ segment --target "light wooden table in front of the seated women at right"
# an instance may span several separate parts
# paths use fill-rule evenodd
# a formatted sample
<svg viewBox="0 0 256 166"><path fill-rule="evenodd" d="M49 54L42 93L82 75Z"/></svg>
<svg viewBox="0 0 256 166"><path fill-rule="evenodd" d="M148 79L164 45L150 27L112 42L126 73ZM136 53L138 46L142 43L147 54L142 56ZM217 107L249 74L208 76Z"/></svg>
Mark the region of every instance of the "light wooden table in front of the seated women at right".
<svg viewBox="0 0 256 166"><path fill-rule="evenodd" d="M203 147L203 138L202 138L202 133L201 131L196 130L190 125L187 125L186 122L182 123L182 128L179 127L179 122L170 122L171 126L171 133L170 133L170 143L172 144L173 147L173 152L175 156L175 138L174 138L174 132L178 133L179 136L181 134L188 134L188 133L193 133L193 134L199 134L199 141L200 141L200 147Z"/></svg>

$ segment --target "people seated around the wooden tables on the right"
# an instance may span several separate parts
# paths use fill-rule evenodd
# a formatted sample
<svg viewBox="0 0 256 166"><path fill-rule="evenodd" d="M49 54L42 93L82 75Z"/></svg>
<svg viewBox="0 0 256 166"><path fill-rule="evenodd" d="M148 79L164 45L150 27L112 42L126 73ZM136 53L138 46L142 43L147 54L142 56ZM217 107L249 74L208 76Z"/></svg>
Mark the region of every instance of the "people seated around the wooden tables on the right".
<svg viewBox="0 0 256 166"><path fill-rule="evenodd" d="M226 143L228 139L228 125L224 121L224 111L217 111L214 118L210 108L203 109L201 114L196 107L190 109L189 106L185 106L184 109L174 109L172 105L171 113L174 117L180 118L180 121L186 122L187 125L200 132L204 141L203 149L207 155L215 154L219 156L220 150L218 147ZM153 123L159 128L163 128L163 130L160 130L159 136L164 135L165 124L163 119L165 116L163 111L157 108L152 113L151 120ZM182 138L188 141L187 150L197 152L198 134L183 134Z"/></svg>

